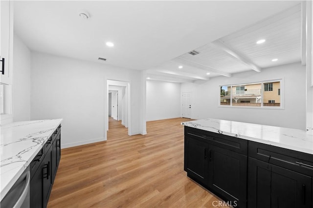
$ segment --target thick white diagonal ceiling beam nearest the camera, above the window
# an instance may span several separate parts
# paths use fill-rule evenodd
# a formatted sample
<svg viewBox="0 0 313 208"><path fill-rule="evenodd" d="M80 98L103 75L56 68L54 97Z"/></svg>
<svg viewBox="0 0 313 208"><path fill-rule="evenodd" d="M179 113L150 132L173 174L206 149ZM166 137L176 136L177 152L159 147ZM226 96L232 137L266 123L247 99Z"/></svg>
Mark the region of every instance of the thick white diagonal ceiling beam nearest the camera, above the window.
<svg viewBox="0 0 313 208"><path fill-rule="evenodd" d="M261 68L255 65L252 61L250 61L248 58L244 57L243 55L240 55L237 51L230 48L228 45L226 45L221 40L215 40L211 42L211 45L213 45L216 49L219 49L221 51L224 51L227 55L229 55L232 58L236 58L249 68L253 69L256 72L261 72Z"/></svg>

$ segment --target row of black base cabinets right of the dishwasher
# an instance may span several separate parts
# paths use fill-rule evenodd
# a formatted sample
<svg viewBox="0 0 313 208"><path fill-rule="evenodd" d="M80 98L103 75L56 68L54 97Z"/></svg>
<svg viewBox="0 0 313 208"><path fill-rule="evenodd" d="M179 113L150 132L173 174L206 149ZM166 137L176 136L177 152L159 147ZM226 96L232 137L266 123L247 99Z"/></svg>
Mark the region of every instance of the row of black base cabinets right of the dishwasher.
<svg viewBox="0 0 313 208"><path fill-rule="evenodd" d="M45 208L61 158L61 126L30 163L30 207Z"/></svg>

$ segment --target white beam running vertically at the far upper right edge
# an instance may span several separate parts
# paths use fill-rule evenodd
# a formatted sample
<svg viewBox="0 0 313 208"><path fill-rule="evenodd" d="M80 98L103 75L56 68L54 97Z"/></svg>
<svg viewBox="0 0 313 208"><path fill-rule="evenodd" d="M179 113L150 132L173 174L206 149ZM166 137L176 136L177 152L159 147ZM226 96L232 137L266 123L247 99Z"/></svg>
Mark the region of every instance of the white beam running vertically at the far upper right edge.
<svg viewBox="0 0 313 208"><path fill-rule="evenodd" d="M301 1L301 65L307 64L307 13L306 1Z"/></svg>

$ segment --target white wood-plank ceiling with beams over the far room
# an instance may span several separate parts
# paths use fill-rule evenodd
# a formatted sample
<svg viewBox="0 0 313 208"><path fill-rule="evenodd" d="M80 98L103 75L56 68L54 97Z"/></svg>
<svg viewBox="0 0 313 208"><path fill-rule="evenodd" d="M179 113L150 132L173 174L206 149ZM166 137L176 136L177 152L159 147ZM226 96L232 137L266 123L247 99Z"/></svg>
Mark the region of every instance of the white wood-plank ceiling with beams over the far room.
<svg viewBox="0 0 313 208"><path fill-rule="evenodd" d="M214 76L301 61L301 4L263 19L147 70L151 79L175 82L208 80ZM213 30L214 28L212 28ZM266 39L262 44L256 41ZM272 59L277 58L277 61ZM183 66L179 69L178 66ZM207 75L207 73L210 73Z"/></svg>

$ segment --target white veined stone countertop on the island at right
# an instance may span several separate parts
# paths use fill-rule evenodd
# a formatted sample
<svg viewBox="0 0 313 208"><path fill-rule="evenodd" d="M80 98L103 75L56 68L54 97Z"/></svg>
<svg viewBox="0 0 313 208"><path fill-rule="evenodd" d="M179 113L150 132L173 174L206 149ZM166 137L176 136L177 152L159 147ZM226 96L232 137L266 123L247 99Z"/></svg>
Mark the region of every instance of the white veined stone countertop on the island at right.
<svg viewBox="0 0 313 208"><path fill-rule="evenodd" d="M181 123L184 126L313 154L313 129L306 131L219 119Z"/></svg>

